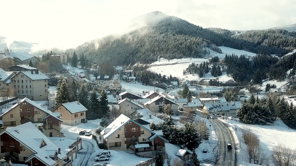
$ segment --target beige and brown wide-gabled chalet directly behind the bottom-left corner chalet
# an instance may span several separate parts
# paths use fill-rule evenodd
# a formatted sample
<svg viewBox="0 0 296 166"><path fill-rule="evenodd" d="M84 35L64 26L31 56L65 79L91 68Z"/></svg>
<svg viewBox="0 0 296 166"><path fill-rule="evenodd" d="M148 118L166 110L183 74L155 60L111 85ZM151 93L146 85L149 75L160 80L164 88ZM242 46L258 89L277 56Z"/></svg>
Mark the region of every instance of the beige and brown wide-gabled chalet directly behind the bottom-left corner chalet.
<svg viewBox="0 0 296 166"><path fill-rule="evenodd" d="M41 124L46 136L61 136L61 122L63 122L59 113L54 113L42 107L36 102L25 97L18 101L9 110L0 115L3 127L18 126L26 122Z"/></svg>

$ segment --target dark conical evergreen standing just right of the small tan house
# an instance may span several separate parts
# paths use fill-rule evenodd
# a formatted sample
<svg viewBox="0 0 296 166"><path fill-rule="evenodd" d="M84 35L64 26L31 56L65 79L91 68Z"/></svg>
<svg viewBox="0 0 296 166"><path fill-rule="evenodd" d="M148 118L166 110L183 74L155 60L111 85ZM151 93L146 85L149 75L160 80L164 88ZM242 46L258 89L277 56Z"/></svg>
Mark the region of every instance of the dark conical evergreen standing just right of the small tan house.
<svg viewBox="0 0 296 166"><path fill-rule="evenodd" d="M90 120L97 119L100 116L99 108L100 102L98 100L97 92L93 89L88 103L86 118Z"/></svg>

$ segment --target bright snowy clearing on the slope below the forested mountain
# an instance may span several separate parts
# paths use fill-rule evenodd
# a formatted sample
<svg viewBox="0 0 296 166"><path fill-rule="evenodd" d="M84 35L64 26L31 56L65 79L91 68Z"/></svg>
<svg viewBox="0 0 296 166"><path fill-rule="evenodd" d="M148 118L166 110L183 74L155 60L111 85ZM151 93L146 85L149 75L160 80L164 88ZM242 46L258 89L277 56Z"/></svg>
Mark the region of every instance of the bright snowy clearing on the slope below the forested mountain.
<svg viewBox="0 0 296 166"><path fill-rule="evenodd" d="M237 54L238 56L241 54L247 55L247 56L255 56L255 53L248 52L245 50L238 50L233 49L225 46L219 46L219 48L222 50L223 53L217 53L214 51L211 51L211 56L218 56L220 58L224 58L226 54ZM181 58L181 59L164 59L161 58L159 61L155 61L151 63L150 70L155 71L157 73L161 73L162 75L170 76L176 76L184 80L195 80L200 79L197 74L187 74L183 75L183 70L186 69L189 64L195 62L195 63L201 63L204 61L208 61L207 58ZM213 78L211 73L207 73L203 78ZM221 76L218 76L219 81L226 81L229 79L232 79L231 77L227 76L226 73L223 72Z"/></svg>

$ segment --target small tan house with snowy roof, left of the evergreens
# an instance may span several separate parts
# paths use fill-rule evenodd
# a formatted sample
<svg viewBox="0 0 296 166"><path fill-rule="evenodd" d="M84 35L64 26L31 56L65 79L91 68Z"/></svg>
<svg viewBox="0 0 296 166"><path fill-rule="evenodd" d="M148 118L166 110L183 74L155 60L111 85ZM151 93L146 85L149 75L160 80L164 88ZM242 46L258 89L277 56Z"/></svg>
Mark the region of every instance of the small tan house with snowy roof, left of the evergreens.
<svg viewBox="0 0 296 166"><path fill-rule="evenodd" d="M86 111L79 101L62 103L57 106L53 112L60 112L63 124L77 125L86 122Z"/></svg>

